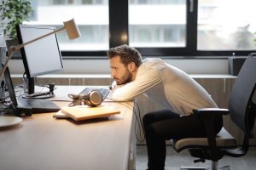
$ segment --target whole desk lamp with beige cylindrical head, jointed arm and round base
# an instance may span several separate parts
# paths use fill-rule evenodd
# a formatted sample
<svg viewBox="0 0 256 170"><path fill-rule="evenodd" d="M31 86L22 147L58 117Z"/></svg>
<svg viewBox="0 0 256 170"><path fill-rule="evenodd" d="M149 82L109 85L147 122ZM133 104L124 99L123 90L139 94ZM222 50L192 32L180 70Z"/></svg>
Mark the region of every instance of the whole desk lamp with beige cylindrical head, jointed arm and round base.
<svg viewBox="0 0 256 170"><path fill-rule="evenodd" d="M55 31L51 31L49 32L48 34L45 34L41 37L38 37L38 38L35 38L31 41L28 41L28 42L24 42L24 43L21 43L17 46L12 46L9 48L9 56L8 58L6 59L4 65L3 65L3 68L0 72L0 79L3 77L3 74L4 74L4 71L6 70L6 67L8 66L8 63L9 63L9 60L11 59L12 55L20 50L20 48L23 48L24 46L26 46L27 44L29 43L32 43L32 42L36 42L44 37L48 37L49 35L51 34L54 34L58 31L61 31L61 30L65 30L67 31L67 36L69 39L75 39L75 38L78 38L80 37L80 31L79 31L79 28L78 26L76 25L75 21L72 19L72 20L67 20L64 23L64 26L58 30L55 30ZM17 116L0 116L0 127L8 127L8 126L11 126L11 125L14 125L14 124L18 124L22 121L22 119L20 117L17 117Z"/></svg>

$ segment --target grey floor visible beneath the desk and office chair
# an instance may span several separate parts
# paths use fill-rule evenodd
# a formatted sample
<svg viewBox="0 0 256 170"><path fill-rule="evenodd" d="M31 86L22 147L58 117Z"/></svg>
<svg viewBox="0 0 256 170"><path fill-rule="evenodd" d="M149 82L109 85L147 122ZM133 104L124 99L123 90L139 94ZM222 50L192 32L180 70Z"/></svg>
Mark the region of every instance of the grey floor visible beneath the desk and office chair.
<svg viewBox="0 0 256 170"><path fill-rule="evenodd" d="M136 170L147 169L146 145L137 145ZM187 150L177 153L172 146L167 146L166 170L178 170L180 167L210 167L211 161L194 163L194 159ZM230 165L231 170L256 170L256 147L251 147L246 156L224 156L218 161L219 166Z"/></svg>

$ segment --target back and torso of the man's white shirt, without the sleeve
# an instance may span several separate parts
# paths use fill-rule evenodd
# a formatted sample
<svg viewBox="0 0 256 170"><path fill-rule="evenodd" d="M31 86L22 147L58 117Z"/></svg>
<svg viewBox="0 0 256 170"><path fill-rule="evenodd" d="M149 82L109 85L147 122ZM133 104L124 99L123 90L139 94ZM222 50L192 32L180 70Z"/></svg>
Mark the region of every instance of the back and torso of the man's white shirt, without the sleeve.
<svg viewBox="0 0 256 170"><path fill-rule="evenodd" d="M207 91L184 71L163 61L154 62L153 68L162 77L162 87L155 86L146 94L159 99L159 103L180 115L192 113L195 108L218 107ZM163 88L163 89L161 89ZM164 94L160 94L163 91Z"/></svg>

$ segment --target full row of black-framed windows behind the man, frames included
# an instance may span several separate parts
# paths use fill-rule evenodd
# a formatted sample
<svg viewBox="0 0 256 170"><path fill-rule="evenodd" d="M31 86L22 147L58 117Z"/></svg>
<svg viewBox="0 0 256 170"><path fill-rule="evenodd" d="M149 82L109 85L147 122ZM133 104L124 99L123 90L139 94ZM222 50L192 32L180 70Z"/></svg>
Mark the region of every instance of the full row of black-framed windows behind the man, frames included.
<svg viewBox="0 0 256 170"><path fill-rule="evenodd" d="M247 55L256 49L254 0L32 0L31 24L74 18L82 37L58 33L65 57L102 57L129 44L144 56Z"/></svg>

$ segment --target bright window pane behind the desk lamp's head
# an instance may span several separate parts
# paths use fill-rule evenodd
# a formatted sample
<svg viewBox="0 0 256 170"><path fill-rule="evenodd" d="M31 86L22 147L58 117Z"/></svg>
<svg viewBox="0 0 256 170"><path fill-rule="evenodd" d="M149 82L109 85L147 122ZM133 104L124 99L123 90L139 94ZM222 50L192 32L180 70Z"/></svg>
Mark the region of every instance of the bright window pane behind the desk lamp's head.
<svg viewBox="0 0 256 170"><path fill-rule="evenodd" d="M103 51L109 48L108 0L38 0L33 1L30 24L63 26L62 21L75 19L81 37L69 40L67 33L57 34L62 52Z"/></svg>

